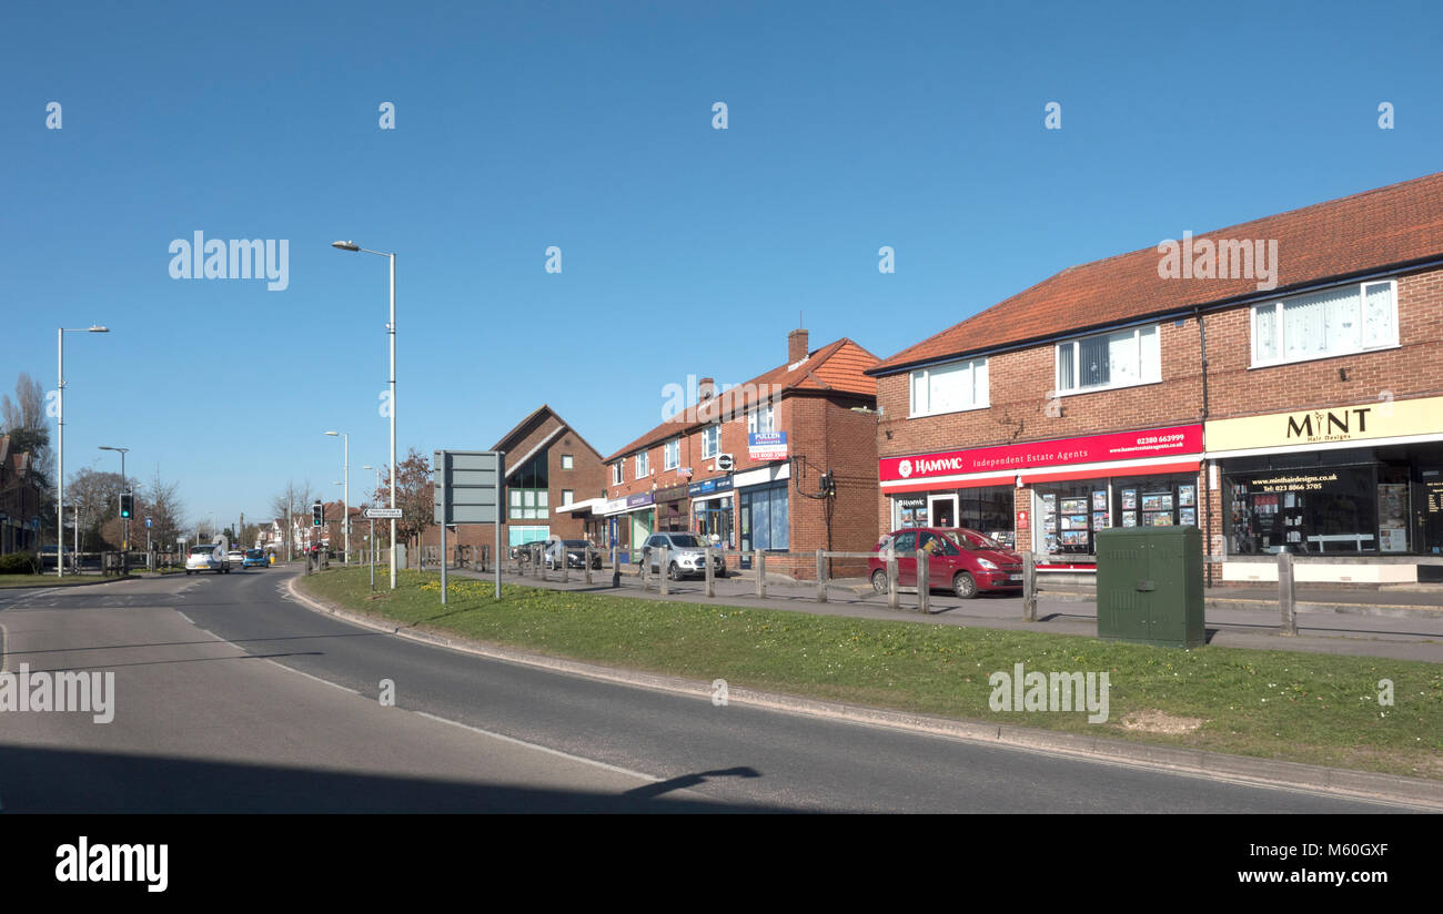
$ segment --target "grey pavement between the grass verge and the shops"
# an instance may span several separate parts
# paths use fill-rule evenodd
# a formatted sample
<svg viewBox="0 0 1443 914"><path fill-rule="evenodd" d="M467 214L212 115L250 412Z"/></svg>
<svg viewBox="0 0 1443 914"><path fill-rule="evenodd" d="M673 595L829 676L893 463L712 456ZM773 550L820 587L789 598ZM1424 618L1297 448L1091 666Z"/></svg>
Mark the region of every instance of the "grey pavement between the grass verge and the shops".
<svg viewBox="0 0 1443 914"><path fill-rule="evenodd" d="M494 580L492 572L449 569L462 578ZM514 574L502 569L502 581L577 593L618 593L610 587L612 569L593 571L587 585L583 572L570 571L569 581L560 572L545 578ZM931 594L931 611L916 611L916 594L902 595L902 608L887 607L886 595L873 591L860 578L838 578L827 587L827 603L817 603L814 581L792 581L782 575L768 575L768 595L756 597L756 581L749 572L733 571L716 581L716 597L726 605L791 610L818 616L854 618L885 618L939 626L1006 629L1019 631L1048 631L1097 637L1097 604L1085 590L1043 590L1038 597L1038 621L1023 621L1022 597L983 594L975 600L960 600L948 593ZM703 581L671 581L668 597L658 593L658 581L646 590L629 567L622 568L619 593L648 600L687 600L706 603ZM1250 647L1258 650L1299 650L1312 653L1387 657L1394 660L1426 660L1443 663L1443 598L1439 591L1367 591L1349 588L1299 588L1297 634L1280 634L1280 613L1274 588L1215 587L1208 590L1203 621L1209 644L1221 647ZM1303 594L1306 593L1306 598ZM1266 598L1271 594L1271 600ZM1326 600L1325 600L1326 597ZM1385 597L1387 604L1369 603ZM1394 603L1397 600L1397 603ZM1387 610L1380 613L1378 610Z"/></svg>

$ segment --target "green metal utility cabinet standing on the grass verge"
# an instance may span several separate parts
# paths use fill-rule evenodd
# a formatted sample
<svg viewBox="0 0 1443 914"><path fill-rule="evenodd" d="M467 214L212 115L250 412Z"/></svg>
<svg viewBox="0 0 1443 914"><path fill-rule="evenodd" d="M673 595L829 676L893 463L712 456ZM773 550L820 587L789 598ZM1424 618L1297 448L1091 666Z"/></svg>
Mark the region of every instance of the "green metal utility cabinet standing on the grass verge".
<svg viewBox="0 0 1443 914"><path fill-rule="evenodd" d="M1198 528L1098 532L1097 636L1160 647L1198 647L1206 642Z"/></svg>

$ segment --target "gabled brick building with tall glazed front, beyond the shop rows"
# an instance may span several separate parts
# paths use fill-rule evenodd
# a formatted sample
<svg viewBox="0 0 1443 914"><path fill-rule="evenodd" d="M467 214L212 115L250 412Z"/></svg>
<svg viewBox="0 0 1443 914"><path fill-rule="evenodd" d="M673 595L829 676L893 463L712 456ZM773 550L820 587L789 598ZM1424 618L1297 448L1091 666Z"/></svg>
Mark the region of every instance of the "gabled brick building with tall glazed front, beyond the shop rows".
<svg viewBox="0 0 1443 914"><path fill-rule="evenodd" d="M501 525L501 548L561 536L579 539L587 533L589 505L606 489L600 453L551 407L541 405L501 437L489 450L506 453L506 518ZM563 509L561 506L576 506ZM489 546L496 533L491 525L460 525L446 535L447 546ZM440 545L440 529L426 529L423 542Z"/></svg>

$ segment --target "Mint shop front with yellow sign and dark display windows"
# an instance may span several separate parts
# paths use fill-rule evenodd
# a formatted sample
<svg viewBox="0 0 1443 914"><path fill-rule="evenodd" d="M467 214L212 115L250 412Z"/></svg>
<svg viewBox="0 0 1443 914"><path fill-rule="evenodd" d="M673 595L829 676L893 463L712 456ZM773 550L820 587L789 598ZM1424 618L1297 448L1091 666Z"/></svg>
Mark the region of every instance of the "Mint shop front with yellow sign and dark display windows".
<svg viewBox="0 0 1443 914"><path fill-rule="evenodd" d="M1439 565L1416 559L1443 555L1443 398L1219 420L1206 432L1224 580L1276 580L1267 556L1284 549L1302 558L1300 581L1437 580ZM1377 562L1329 565L1342 556Z"/></svg>

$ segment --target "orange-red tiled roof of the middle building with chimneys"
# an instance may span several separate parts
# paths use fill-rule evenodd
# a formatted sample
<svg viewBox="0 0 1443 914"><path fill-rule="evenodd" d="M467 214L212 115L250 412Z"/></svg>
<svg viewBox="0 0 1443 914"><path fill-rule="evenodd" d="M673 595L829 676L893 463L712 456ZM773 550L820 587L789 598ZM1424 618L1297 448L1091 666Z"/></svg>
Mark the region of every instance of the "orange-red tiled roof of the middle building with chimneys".
<svg viewBox="0 0 1443 914"><path fill-rule="evenodd" d="M762 399L760 391L771 395L773 386L782 389L782 395L792 391L835 391L838 394L857 394L861 396L877 395L877 382L867 376L867 369L877 363L877 356L872 355L856 342L841 337L827 343L821 349L814 349L797 365L778 365L772 371L758 375L726 392L719 394L723 401L722 408L729 411L746 409ZM762 385L766 385L765 388ZM711 411L717 408L716 399L707 401ZM677 435L687 434L710 421L709 409L687 407L671 420L657 425L642 437L620 448L603 463L612 463L618 457L625 457L644 447L659 444Z"/></svg>

